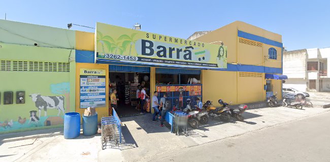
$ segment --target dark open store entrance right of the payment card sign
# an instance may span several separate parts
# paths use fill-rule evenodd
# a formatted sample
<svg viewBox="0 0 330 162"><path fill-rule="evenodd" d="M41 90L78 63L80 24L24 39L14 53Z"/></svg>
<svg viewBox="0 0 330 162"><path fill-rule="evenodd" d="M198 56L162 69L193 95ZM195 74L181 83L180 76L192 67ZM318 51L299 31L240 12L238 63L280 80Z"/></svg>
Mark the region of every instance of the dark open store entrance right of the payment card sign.
<svg viewBox="0 0 330 162"><path fill-rule="evenodd" d="M138 85L146 87L150 95L150 73L109 72L109 102L112 91L117 90L117 113L120 117L140 114L138 110Z"/></svg>

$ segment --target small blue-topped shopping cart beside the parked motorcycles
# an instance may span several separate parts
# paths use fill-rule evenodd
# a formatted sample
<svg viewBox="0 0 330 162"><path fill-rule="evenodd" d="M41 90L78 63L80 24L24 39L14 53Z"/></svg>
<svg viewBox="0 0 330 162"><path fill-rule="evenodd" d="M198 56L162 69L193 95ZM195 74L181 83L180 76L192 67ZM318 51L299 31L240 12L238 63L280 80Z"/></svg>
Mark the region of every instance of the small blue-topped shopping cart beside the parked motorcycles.
<svg viewBox="0 0 330 162"><path fill-rule="evenodd" d="M173 111L174 114L174 131L179 136L179 132L183 132L185 136L188 136L187 124L188 114L183 111Z"/></svg>

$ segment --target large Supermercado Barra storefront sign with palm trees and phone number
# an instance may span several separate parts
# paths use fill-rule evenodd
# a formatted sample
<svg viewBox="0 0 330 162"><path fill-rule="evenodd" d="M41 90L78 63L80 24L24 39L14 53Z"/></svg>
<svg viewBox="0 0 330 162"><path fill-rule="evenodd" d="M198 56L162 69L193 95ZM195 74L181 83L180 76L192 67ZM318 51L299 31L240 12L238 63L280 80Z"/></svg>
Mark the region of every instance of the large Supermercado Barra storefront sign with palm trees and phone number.
<svg viewBox="0 0 330 162"><path fill-rule="evenodd" d="M96 23L95 55L148 65L227 68L227 47Z"/></svg>

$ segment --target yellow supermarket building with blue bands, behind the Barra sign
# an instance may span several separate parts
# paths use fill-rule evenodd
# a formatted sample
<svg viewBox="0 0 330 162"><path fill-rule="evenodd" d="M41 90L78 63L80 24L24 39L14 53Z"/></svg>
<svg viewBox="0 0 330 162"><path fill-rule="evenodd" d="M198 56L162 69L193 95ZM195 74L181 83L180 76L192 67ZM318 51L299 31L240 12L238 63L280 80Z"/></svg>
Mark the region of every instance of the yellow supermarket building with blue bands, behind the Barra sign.
<svg viewBox="0 0 330 162"><path fill-rule="evenodd" d="M120 27L118 28L120 29ZM117 27L114 27L114 29L117 29ZM151 35L153 33L150 33L150 37ZM197 80L201 80L202 100L211 100L215 105L217 105L219 99L226 102L232 101L233 104L253 103L265 101L267 95L272 95L275 92L282 93L282 80L268 79L273 78L273 74L282 73L282 36L244 22L233 22L194 40L218 46L222 46L221 43L223 43L227 47L226 68L221 69L199 69L185 66L167 67L163 66L163 64L158 65L157 63L133 64L112 62L97 58L96 56L94 58L94 55L100 55L102 53L102 51L94 52L97 49L95 45L101 47L102 43L102 48L107 47L103 44L104 42L99 42L102 39L100 36L95 33L76 31L76 111L78 112L82 112L82 109L79 108L80 85L78 72L80 68L106 69L107 74L109 74L107 78L109 77L110 80L107 80L106 85L111 82L111 78L118 77L119 73L142 73L150 78L150 95L156 91L157 87L161 86L158 85L160 80L180 86L186 85L186 80L194 77ZM95 37L99 38L96 38L97 40L95 41ZM164 37L167 36L156 34L153 39L166 41ZM185 39L181 43L184 44L184 41ZM189 45L189 41L186 45ZM103 51L103 54L106 53ZM118 75L116 75L117 73ZM268 74L268 77L266 74ZM120 77L127 78L131 76L130 74L129 76L128 74L120 74ZM139 83L141 80L143 81L141 76L139 76L139 79ZM162 92L160 89L159 87L159 92ZM170 87L169 92L171 92ZM106 98L108 98L108 94ZM279 95L279 98L281 98L281 95ZM181 102L184 103L185 99L186 97L183 97L183 101L173 101L173 103L180 106L182 104ZM108 106L109 103L107 101L106 107ZM98 108L98 113L107 115L108 109L106 107Z"/></svg>

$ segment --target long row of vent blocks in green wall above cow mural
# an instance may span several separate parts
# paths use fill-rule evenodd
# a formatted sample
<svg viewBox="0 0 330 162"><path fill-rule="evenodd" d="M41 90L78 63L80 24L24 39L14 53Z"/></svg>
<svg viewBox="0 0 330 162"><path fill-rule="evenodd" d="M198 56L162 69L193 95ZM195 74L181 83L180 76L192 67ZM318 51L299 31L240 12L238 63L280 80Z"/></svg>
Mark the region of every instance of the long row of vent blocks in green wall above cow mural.
<svg viewBox="0 0 330 162"><path fill-rule="evenodd" d="M70 63L0 60L0 71L70 72Z"/></svg>

